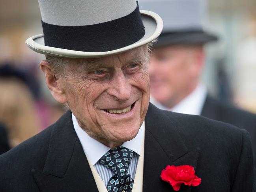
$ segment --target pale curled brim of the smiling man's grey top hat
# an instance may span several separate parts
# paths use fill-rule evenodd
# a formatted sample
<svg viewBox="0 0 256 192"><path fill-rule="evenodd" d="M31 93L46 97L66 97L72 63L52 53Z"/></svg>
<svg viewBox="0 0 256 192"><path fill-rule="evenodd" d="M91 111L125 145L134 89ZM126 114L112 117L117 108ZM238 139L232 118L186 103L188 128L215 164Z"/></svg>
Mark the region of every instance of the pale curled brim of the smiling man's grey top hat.
<svg viewBox="0 0 256 192"><path fill-rule="evenodd" d="M163 30L163 21L159 15L152 11L140 10L140 15L142 18L143 25L145 27L145 35L139 41L128 45L126 47L118 48L115 50L105 51L105 52L84 52L84 51L76 51L69 50L63 48L49 47L45 46L43 34L35 35L26 40L26 44L29 48L34 50L35 52L51 55L51 56L59 56L59 57L67 57L67 58L99 58L104 56L109 56L113 54L118 54L121 52L125 52L127 50L131 50L136 47L140 47L142 45L146 45L147 43L156 39Z"/></svg>

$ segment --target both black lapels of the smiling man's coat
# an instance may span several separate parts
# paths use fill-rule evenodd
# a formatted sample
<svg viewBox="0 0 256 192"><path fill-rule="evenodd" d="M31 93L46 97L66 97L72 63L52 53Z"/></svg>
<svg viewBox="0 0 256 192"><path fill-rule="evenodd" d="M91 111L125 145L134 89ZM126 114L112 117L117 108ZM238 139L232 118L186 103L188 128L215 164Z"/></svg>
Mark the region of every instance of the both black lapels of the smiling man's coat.
<svg viewBox="0 0 256 192"><path fill-rule="evenodd" d="M189 151L178 134L178 123L152 104L145 124L143 191L170 192L171 186L161 181L161 171L169 164L189 164L196 168L199 149ZM32 170L32 175L41 192L98 191L70 111L53 125L43 171ZM180 191L190 190L184 187Z"/></svg>

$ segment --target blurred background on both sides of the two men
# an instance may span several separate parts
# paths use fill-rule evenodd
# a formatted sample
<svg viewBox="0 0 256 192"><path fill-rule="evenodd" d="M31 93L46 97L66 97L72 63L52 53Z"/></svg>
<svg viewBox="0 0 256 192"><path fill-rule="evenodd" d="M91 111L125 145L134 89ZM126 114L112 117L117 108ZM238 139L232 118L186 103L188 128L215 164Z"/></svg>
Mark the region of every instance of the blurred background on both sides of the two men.
<svg viewBox="0 0 256 192"><path fill-rule="evenodd" d="M206 47L202 79L215 97L256 113L256 1L209 0L207 11L207 31L219 41ZM45 85L39 69L44 56L25 45L41 33L37 0L0 0L0 121L13 135L11 146L65 112Z"/></svg>

